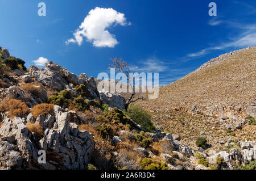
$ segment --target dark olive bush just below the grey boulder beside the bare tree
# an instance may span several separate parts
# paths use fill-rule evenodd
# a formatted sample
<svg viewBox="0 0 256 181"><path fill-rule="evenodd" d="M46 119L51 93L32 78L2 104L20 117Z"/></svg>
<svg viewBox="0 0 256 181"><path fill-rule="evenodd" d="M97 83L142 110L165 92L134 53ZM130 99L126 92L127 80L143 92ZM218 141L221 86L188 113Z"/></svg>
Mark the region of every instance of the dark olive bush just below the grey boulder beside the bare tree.
<svg viewBox="0 0 256 181"><path fill-rule="evenodd" d="M113 108L109 112L104 112L105 119L110 123L118 124L122 123L124 125L130 124L130 119L125 116L125 114L119 110L117 107Z"/></svg>

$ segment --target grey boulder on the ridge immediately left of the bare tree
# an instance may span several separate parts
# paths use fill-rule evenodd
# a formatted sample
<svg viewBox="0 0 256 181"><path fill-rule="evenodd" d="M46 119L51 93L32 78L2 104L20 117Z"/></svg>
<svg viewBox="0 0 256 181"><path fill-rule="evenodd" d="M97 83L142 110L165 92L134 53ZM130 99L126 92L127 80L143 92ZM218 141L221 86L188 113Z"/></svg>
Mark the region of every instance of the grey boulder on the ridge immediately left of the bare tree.
<svg viewBox="0 0 256 181"><path fill-rule="evenodd" d="M119 110L125 108L125 98L115 92L100 91L100 99L102 104L108 104L109 107L117 107Z"/></svg>

